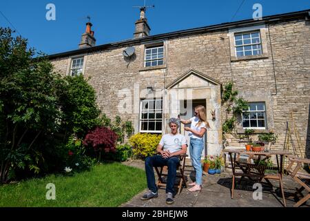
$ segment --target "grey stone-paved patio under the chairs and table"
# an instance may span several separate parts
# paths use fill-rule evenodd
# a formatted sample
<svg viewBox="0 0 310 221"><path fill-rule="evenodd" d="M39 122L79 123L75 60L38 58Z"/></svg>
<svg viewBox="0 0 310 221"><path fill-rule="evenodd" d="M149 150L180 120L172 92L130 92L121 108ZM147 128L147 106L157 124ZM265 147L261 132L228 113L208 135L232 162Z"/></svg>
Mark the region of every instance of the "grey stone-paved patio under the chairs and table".
<svg viewBox="0 0 310 221"><path fill-rule="evenodd" d="M124 162L127 166L134 166L144 169L144 162L135 160L133 162ZM155 173L156 174L156 173ZM185 175L187 175L187 182L190 183L194 178L192 166L185 167ZM174 204L167 205L165 203L165 189L161 188L158 191L158 198L143 201L140 200L145 191L134 196L129 202L122 204L124 207L282 207L282 198L278 182L271 180L273 188L262 183L262 200L254 200L254 189L251 186L254 184L251 181L244 180L241 184L235 186L234 199L231 199L231 172L226 171L221 174L203 175L203 189L200 193L191 193L187 189L183 189L180 195L174 198ZM293 198L289 198L290 193L296 190L296 185L290 177L283 177L285 197L287 207L293 206L296 202ZM145 180L146 187L146 180ZM309 207L310 202L302 205L302 207Z"/></svg>

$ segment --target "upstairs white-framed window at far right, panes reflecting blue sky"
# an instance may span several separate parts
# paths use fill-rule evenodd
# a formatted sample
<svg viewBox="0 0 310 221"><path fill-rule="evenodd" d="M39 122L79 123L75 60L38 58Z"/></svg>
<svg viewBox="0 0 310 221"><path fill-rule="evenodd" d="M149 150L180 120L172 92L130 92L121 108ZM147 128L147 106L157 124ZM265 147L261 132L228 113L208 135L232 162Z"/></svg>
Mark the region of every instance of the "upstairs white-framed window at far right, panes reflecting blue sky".
<svg viewBox="0 0 310 221"><path fill-rule="evenodd" d="M247 32L235 35L236 57L249 55L261 55L262 43L260 41L260 32Z"/></svg>

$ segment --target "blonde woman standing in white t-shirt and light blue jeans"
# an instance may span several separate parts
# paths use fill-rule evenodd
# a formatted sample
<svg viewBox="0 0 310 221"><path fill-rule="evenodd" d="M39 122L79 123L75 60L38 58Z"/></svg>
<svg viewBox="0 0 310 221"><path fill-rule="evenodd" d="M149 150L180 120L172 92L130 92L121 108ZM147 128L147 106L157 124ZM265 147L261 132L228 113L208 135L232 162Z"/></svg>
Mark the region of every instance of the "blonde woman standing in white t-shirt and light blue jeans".
<svg viewBox="0 0 310 221"><path fill-rule="evenodd" d="M195 116L191 119L185 120L180 119L183 124L191 123L191 127L185 127L185 131L189 131L189 155L192 160L192 165L194 166L196 173L196 182L189 184L193 186L189 191L200 191L201 184L203 184L203 169L201 167L201 154L203 153L203 148L205 148L203 137L207 128L209 128L209 123L207 122L207 115L205 107L202 105L195 107Z"/></svg>

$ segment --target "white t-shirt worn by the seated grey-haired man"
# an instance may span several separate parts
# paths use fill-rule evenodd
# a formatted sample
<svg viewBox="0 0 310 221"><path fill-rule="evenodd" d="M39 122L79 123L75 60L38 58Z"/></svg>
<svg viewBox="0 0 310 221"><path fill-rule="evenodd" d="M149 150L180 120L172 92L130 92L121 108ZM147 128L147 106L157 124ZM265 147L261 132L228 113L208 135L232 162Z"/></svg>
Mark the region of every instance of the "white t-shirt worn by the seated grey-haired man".
<svg viewBox="0 0 310 221"><path fill-rule="evenodd" d="M174 153L176 151L180 151L182 149L182 145L187 144L187 142L185 137L179 133L176 135L168 133L161 137L161 142L159 142L159 144L163 146L164 151Z"/></svg>

